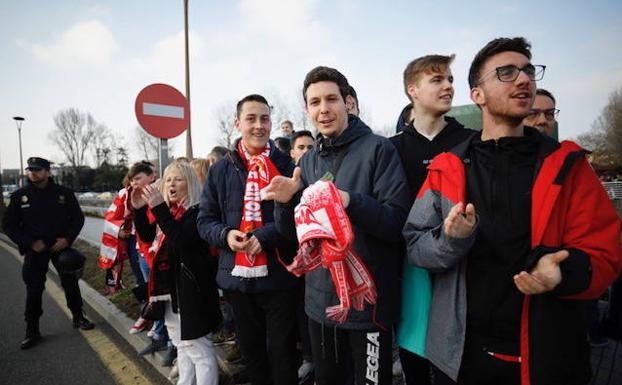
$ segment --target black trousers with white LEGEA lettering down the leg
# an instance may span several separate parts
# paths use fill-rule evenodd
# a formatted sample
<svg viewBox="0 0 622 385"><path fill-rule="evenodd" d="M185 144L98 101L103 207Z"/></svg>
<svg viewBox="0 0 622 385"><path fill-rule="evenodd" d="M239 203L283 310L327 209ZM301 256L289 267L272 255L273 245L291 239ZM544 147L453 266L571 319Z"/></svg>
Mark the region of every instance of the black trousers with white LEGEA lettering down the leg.
<svg viewBox="0 0 622 385"><path fill-rule="evenodd" d="M309 319L317 385L391 385L391 332L324 326Z"/></svg>

